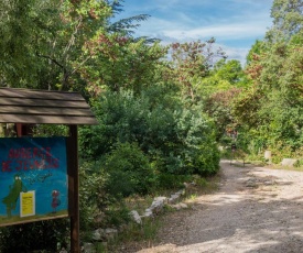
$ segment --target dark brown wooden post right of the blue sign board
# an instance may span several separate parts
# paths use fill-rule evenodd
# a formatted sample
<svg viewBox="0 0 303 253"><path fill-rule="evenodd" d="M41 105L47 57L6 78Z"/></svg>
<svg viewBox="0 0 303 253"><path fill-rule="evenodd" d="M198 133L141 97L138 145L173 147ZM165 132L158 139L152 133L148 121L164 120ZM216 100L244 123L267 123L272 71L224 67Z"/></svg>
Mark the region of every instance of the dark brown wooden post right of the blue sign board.
<svg viewBox="0 0 303 253"><path fill-rule="evenodd" d="M71 216L71 252L80 253L79 243L79 175L78 175L78 131L69 125L68 140L68 202Z"/></svg>

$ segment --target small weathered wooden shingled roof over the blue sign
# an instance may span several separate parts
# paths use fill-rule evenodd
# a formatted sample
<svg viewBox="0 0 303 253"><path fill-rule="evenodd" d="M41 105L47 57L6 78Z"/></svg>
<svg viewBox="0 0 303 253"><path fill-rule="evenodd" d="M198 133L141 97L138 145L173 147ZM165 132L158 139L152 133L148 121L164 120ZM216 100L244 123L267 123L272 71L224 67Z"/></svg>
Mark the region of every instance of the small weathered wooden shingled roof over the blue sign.
<svg viewBox="0 0 303 253"><path fill-rule="evenodd" d="M78 92L0 88L0 123L97 124Z"/></svg>

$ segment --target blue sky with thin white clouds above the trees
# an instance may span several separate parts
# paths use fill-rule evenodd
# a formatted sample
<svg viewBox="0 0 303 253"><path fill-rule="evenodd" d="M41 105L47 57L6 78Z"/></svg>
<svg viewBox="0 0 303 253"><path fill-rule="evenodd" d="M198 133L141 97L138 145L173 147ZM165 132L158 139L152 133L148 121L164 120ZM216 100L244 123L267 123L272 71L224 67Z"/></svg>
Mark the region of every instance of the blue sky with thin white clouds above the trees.
<svg viewBox="0 0 303 253"><path fill-rule="evenodd" d="M151 15L136 31L171 42L216 38L228 55L242 64L251 45L271 26L273 0L125 0L117 18Z"/></svg>

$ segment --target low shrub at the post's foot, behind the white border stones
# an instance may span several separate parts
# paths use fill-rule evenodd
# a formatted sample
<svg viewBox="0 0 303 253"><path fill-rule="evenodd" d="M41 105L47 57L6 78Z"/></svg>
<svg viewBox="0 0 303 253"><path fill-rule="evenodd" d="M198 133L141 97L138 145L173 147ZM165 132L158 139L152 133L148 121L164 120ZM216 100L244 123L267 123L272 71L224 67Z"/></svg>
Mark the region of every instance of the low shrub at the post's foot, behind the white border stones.
<svg viewBox="0 0 303 253"><path fill-rule="evenodd" d="M89 240L94 228L119 226L129 221L129 210L121 194L108 189L111 178L102 161L82 163L79 176L82 237Z"/></svg>

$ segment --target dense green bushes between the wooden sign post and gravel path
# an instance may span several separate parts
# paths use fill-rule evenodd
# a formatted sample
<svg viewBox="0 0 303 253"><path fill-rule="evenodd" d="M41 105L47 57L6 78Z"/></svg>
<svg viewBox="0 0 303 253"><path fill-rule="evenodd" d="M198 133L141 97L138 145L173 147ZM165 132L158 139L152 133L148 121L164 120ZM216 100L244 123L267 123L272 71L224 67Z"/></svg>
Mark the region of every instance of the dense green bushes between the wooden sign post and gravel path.
<svg viewBox="0 0 303 253"><path fill-rule="evenodd" d="M119 224L128 219L125 197L180 188L194 174L217 172L214 122L177 92L155 85L139 95L107 91L91 102L99 124L79 129L80 156L90 161L80 169L83 227L98 216L102 226Z"/></svg>

